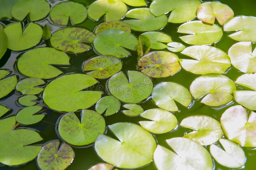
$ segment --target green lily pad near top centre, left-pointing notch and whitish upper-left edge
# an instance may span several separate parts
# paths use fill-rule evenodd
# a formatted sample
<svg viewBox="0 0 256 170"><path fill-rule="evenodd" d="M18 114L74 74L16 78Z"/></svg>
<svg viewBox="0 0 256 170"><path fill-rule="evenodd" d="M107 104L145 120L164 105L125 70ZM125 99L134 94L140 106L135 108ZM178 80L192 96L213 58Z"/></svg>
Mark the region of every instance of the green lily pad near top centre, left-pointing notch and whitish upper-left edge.
<svg viewBox="0 0 256 170"><path fill-rule="evenodd" d="M125 14L125 17L133 18L125 22L135 31L154 31L163 28L168 23L166 15L155 17L149 8L132 9Z"/></svg>

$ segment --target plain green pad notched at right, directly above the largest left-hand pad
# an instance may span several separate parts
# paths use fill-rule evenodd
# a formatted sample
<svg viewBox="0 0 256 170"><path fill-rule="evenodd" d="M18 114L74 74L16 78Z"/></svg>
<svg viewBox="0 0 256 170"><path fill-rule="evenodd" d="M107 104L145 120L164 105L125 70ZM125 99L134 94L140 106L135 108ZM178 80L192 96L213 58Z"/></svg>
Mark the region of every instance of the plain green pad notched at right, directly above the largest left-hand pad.
<svg viewBox="0 0 256 170"><path fill-rule="evenodd" d="M17 64L22 74L41 79L50 79L63 73L53 65L70 65L68 55L54 48L35 48L24 53Z"/></svg>

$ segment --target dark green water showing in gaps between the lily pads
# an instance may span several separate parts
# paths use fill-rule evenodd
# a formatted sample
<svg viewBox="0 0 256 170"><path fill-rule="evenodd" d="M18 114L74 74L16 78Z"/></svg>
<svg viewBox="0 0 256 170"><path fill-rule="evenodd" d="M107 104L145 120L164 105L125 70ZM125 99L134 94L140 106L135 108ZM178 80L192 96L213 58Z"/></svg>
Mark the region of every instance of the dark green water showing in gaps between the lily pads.
<svg viewBox="0 0 256 170"><path fill-rule="evenodd" d="M52 1L50 0L50 2L53 2L53 0ZM76 0L76 2L84 3L85 6L87 6L90 3L92 3L93 1L92 0ZM236 1L221 0L221 3L228 4L228 6L233 9L235 16L238 16L238 15L256 16L256 11L255 11L256 1L255 0L236 0ZM103 21L104 21L104 18L101 18L97 23L95 23L95 22L92 22L89 18L87 18L83 23L76 25L76 26L85 27L88 30L93 31L94 27ZM2 22L6 25L10 23L9 21L2 21ZM49 21L48 21L48 18L46 18L43 21L37 22L37 23L40 25L44 25L44 24L48 24ZM169 34L172 37L172 40L174 42L180 42L184 45L187 45L180 40L179 34L177 33L177 28L180 25L181 24L168 23L168 25L166 25L164 27L164 29L162 29L161 31ZM59 28L57 26L51 25L50 29L57 30ZM134 34L137 37L141 33L142 32L132 31L132 34ZM216 47L220 48L224 52L227 52L228 49L230 48L230 46L232 46L233 44L236 43L235 40L228 38L227 35L228 35L228 33L224 32L222 39L218 43L216 43ZM48 41L44 42L42 40L39 46L50 46L50 43ZM255 44L253 45L253 47L255 47ZM168 50L166 50L166 51L168 51ZM13 73L18 74L20 79L24 78L24 76L19 73L19 71L17 70L17 67L16 67L16 60L20 57L20 54L22 54L23 52L11 52L10 50L8 50L0 62L0 67L3 66L2 68L12 70L13 71L12 74ZM124 71L124 72L126 72L128 70L136 70L137 54L134 51L131 51L131 53L132 53L131 56L122 59L122 62L123 62L122 71ZM177 53L177 54L180 59L188 58L187 56L184 56L180 53ZM82 73L83 72L82 63L85 60L88 60L92 57L97 56L97 54L93 51L93 49L91 49L85 53L80 53L77 55L72 54L72 53L68 53L68 55L71 58L71 66L70 67L61 67L61 69L65 73ZM230 79L235 81L236 78L241 74L242 74L241 72L239 72L237 69L232 67L229 69L229 71L225 75L227 75ZM177 74L175 74L173 76L170 76L167 78L152 78L152 81L153 81L154 85L156 85L157 83L162 82L162 81L174 81L174 82L184 85L186 88L189 89L191 82L198 76L199 75L188 73L184 69L181 69L180 72L178 72ZM51 81L51 80L49 80L49 81ZM97 86L100 86L100 85L105 87L107 80L99 80L99 81L100 81L99 84L97 84L95 88L97 88ZM106 92L106 90L103 89L103 91L104 91L103 96L107 96L108 93ZM20 96L21 96L21 94L19 92L13 91L7 97L1 99L0 103L6 104L6 105L12 107L12 111L9 112L8 116L16 114L18 112L18 110L23 108L18 102L16 102L18 97L20 97ZM40 94L39 97L42 98L42 94ZM38 102L39 102L39 104L45 106L45 104L42 102L42 100L38 101ZM174 115L177 117L178 122L180 122L183 118L185 118L189 115L195 115L195 114L209 115L211 117L214 117L218 121L220 121L221 114L228 107L230 107L232 105L236 105L236 104L237 103L232 102L232 103L229 103L228 105L225 105L222 107L213 108L213 107L206 106L206 105L200 103L200 100L198 100L198 101L193 101L193 106L190 107L189 109L187 109L178 103L177 105L178 105L178 108L180 109L180 111L175 112ZM122 103L122 105L123 105L123 103ZM140 103L140 105L143 107L144 110L148 110L148 109L157 107L154 104L154 102L152 101L152 99L148 99L147 101ZM39 142L38 144L44 144L50 140L60 139L58 137L58 134L56 133L55 128L56 128L56 123L58 122L58 119L61 117L61 115L63 113L51 111L47 107L44 107L44 109L46 109L45 113L47 113L47 114L41 122L39 122L35 125L26 126L26 127L33 128L33 129L36 129L37 131L39 131L39 134L42 136L42 138L44 140ZM92 106L89 109L93 110L94 106ZM125 109L121 106L118 113L116 113L112 116L104 117L106 120L106 124L109 125L109 124L114 124L117 122L138 123L140 120L143 120L143 118L141 118L141 117L127 117L124 114L122 114L121 110L125 110ZM80 112L79 111L76 112L76 115L79 117ZM173 138L173 137L181 137L184 135L184 133L186 133L188 131L189 130L186 128L179 127L175 131L165 133L165 134L157 134L157 135L154 135L154 137L156 138L156 141L158 144L168 147L168 145L165 142L166 139ZM107 132L107 135L114 137L113 134L111 134L109 131ZM81 147L80 148L73 147L73 149L75 151L75 159L74 159L73 163L67 168L69 170L88 169L97 163L103 162L97 156L97 154L94 152L93 144L82 147L82 148ZM207 149L209 149L209 148L207 147ZM245 164L244 169L246 169L246 170L256 169L255 168L256 151L244 148L244 152L247 157L247 162ZM19 169L19 170L32 169L33 170L33 169L37 169L37 165L36 165L36 160L33 160L25 165L18 166L18 167L8 167L8 166L0 165L0 169L12 169L12 170L14 170L14 169L15 170L16 169ZM156 168L154 166L154 163L152 162L151 164L144 166L142 168L139 168L139 169L140 170L151 170L151 169L153 170ZM223 167L215 162L215 169L222 170L222 169L229 169L229 168Z"/></svg>

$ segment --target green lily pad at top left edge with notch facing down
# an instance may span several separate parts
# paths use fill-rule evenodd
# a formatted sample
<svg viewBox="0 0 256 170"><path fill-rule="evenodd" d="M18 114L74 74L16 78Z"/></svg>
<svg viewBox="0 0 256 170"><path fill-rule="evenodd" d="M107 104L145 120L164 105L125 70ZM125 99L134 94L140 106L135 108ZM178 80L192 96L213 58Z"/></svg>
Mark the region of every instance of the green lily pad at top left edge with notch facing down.
<svg viewBox="0 0 256 170"><path fill-rule="evenodd" d="M29 14L30 21L47 16L50 4L45 0L19 0L12 6L12 17L22 21Z"/></svg>

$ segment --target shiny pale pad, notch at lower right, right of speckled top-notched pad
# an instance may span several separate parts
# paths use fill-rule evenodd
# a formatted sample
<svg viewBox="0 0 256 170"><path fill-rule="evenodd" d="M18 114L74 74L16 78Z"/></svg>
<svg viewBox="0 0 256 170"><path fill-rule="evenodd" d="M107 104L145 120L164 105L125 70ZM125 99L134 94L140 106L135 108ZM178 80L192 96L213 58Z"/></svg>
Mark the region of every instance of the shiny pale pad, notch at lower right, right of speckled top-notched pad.
<svg viewBox="0 0 256 170"><path fill-rule="evenodd" d="M156 105L164 110L179 111L176 103L188 107L192 101L188 89L175 82L161 82L152 92L152 99Z"/></svg>

